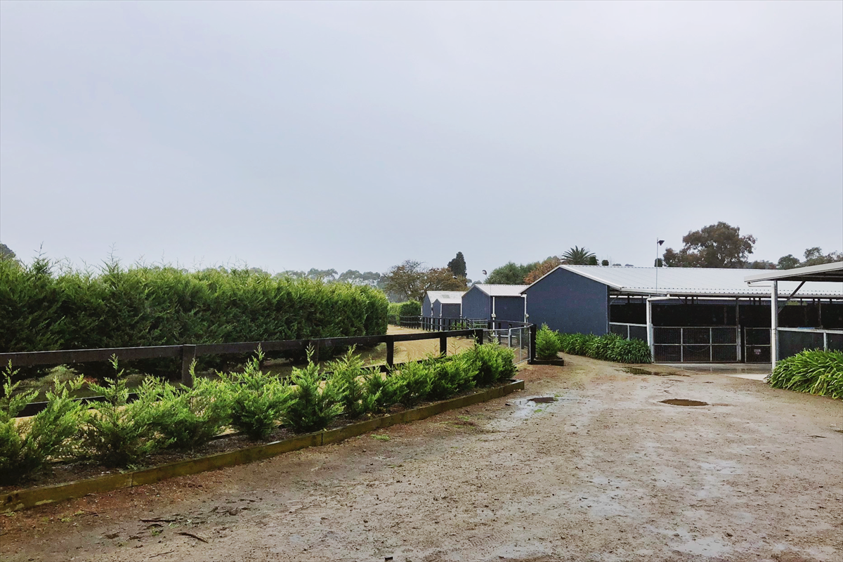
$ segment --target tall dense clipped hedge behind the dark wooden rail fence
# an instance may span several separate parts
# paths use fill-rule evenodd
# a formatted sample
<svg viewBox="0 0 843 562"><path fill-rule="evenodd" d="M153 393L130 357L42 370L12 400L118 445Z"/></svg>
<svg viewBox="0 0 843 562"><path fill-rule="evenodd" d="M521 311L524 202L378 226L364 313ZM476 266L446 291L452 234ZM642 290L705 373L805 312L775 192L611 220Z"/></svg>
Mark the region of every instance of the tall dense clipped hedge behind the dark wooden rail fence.
<svg viewBox="0 0 843 562"><path fill-rule="evenodd" d="M386 333L369 286L174 267L52 271L0 260L0 351L303 340ZM161 368L168 361L147 361ZM171 368L169 366L168 368Z"/></svg>

